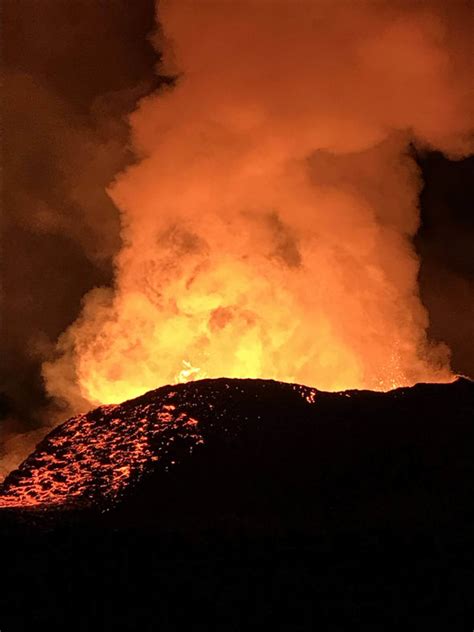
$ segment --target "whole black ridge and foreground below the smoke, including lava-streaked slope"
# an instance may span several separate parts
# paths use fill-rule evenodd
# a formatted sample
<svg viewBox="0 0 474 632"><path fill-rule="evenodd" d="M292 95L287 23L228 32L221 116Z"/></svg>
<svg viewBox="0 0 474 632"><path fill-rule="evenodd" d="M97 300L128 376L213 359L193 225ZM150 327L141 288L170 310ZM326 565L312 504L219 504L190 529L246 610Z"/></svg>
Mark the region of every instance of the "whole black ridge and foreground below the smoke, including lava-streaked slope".
<svg viewBox="0 0 474 632"><path fill-rule="evenodd" d="M5 630L33 615L105 630L464 625L473 448L464 378L388 393L202 380L102 406L0 488Z"/></svg>

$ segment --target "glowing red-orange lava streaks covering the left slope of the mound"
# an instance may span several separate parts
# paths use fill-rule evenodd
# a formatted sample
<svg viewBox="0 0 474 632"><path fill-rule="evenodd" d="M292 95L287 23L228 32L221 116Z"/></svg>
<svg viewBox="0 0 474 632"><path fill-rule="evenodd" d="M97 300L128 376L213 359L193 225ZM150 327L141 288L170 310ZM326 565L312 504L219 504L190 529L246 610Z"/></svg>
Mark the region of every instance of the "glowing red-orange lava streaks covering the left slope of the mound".
<svg viewBox="0 0 474 632"><path fill-rule="evenodd" d="M262 383L264 388L265 383ZM223 390L230 401L238 381L164 387L119 406L101 406L53 430L0 487L0 507L104 505L140 479L155 462L168 470L203 444L203 416L214 415ZM314 389L282 385L314 401ZM221 415L216 415L216 421ZM236 429L234 428L233 431ZM179 447L177 447L179 446Z"/></svg>

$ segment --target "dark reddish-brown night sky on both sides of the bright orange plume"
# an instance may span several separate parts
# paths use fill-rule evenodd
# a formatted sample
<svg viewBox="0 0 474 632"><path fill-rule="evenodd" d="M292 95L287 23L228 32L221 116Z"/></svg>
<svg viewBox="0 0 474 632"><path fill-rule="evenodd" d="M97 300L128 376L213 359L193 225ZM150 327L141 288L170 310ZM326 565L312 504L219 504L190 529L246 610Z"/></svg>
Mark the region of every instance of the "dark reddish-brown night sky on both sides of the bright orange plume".
<svg viewBox="0 0 474 632"><path fill-rule="evenodd" d="M153 0L3 3L0 392L24 429L44 403L41 362L84 293L112 278L119 221L104 188L131 160L126 114L160 83L153 26ZM474 377L474 159L418 161L430 333Z"/></svg>

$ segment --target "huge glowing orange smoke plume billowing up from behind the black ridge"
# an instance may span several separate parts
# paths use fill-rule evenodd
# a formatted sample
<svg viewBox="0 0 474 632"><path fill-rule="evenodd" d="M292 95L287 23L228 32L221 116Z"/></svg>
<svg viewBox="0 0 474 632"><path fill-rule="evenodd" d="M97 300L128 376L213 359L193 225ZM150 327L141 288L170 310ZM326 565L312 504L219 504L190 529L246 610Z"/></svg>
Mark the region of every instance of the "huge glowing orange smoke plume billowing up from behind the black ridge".
<svg viewBox="0 0 474 632"><path fill-rule="evenodd" d="M137 162L113 289L84 298L49 392L121 401L190 378L322 389L450 378L427 339L410 147L472 149L465 4L164 1L160 72L131 117Z"/></svg>

